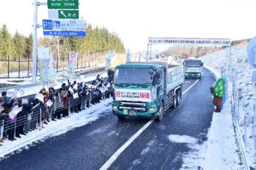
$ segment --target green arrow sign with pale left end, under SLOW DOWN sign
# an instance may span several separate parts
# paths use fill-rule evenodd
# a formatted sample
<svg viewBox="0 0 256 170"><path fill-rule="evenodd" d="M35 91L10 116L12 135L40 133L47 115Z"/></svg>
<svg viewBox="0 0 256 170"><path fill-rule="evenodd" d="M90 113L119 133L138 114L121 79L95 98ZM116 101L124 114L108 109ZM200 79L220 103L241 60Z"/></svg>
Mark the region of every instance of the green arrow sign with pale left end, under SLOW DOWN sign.
<svg viewBox="0 0 256 170"><path fill-rule="evenodd" d="M50 19L79 19L78 10L48 10Z"/></svg>

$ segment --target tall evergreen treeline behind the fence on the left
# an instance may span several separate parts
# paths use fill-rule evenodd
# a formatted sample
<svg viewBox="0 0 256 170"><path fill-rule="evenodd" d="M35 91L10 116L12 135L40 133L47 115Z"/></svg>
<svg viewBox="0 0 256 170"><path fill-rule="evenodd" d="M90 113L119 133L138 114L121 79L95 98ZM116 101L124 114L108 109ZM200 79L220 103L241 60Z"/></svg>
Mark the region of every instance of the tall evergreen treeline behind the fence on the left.
<svg viewBox="0 0 256 170"><path fill-rule="evenodd" d="M86 26L86 37L57 37L44 36L38 39L38 46L50 47L55 58L58 55L58 42L60 58L67 57L69 51L78 52L80 55L92 51L115 48L117 53L125 53L124 44L115 32L107 28ZM32 58L33 34L24 36L18 31L12 36L6 24L0 27L0 59L12 60L21 58Z"/></svg>

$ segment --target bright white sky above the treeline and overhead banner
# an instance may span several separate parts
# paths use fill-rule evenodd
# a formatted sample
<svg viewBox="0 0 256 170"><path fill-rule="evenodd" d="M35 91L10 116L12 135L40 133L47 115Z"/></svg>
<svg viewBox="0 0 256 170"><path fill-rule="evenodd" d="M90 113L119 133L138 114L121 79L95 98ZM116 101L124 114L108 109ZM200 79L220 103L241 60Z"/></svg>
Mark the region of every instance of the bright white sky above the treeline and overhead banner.
<svg viewBox="0 0 256 170"><path fill-rule="evenodd" d="M32 2L4 0L0 25L6 23L12 34L16 30L30 34ZM255 0L80 0L79 6L87 23L114 30L132 52L146 50L147 37L252 38L256 35L255 8ZM39 6L38 24L47 18L47 6Z"/></svg>

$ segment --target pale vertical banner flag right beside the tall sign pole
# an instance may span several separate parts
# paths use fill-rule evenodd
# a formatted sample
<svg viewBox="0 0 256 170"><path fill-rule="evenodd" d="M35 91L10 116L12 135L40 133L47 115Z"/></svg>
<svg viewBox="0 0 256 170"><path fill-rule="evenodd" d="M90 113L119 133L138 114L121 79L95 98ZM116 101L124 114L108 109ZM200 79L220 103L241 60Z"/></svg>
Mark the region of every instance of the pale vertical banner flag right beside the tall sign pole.
<svg viewBox="0 0 256 170"><path fill-rule="evenodd" d="M50 48L49 47L38 47L38 61L39 61L39 72L40 81L39 84L48 86L49 83L49 61L50 61Z"/></svg>

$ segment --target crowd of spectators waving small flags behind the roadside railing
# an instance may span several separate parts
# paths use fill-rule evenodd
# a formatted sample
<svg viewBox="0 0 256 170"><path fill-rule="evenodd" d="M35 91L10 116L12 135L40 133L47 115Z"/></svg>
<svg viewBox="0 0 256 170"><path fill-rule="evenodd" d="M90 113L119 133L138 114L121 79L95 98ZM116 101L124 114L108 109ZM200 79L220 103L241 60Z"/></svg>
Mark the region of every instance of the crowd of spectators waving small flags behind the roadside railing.
<svg viewBox="0 0 256 170"><path fill-rule="evenodd" d="M50 119L67 118L69 113L78 113L100 103L103 98L110 98L113 96L112 81L108 79L104 82L100 75L91 83L74 81L72 84L68 80L68 84L63 83L59 89L42 88L38 94L43 96L43 100L36 97L16 101L8 97L7 92L2 92L0 146L6 138L14 141L21 138L20 135L26 136L38 128L45 128L44 124L48 124Z"/></svg>

